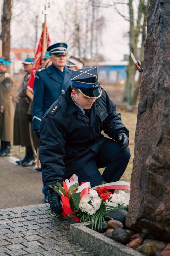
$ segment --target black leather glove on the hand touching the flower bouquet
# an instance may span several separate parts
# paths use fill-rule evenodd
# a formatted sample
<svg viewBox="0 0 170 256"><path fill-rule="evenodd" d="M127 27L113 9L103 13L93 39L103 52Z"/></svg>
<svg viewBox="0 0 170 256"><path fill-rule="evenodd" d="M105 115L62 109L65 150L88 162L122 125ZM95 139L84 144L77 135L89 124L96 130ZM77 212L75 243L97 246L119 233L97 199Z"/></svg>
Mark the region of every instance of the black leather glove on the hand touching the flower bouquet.
<svg viewBox="0 0 170 256"><path fill-rule="evenodd" d="M61 196L57 194L54 190L48 190L48 202L50 204L51 212L56 214L61 214L62 209L60 205Z"/></svg>

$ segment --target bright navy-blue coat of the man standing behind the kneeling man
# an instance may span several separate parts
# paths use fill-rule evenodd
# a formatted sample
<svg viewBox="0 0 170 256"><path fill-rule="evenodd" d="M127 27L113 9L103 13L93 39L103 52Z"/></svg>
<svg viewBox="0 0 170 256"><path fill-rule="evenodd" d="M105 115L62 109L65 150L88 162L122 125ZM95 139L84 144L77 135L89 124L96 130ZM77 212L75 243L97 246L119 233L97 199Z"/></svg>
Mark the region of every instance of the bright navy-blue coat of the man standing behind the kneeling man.
<svg viewBox="0 0 170 256"><path fill-rule="evenodd" d="M65 67L64 79L50 65L35 74L33 130L38 130L44 113L71 84L71 70Z"/></svg>

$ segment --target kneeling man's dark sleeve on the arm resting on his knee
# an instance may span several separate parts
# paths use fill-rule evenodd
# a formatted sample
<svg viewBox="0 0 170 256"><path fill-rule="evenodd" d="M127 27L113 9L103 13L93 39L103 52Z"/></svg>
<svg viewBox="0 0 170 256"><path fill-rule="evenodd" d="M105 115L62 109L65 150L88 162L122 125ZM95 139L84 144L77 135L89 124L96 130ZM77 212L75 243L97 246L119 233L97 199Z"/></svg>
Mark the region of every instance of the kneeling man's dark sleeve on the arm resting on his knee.
<svg viewBox="0 0 170 256"><path fill-rule="evenodd" d="M126 135L129 137L129 131L122 123L121 114L116 113L116 104L113 104L111 99L108 97L107 93L106 104L108 116L104 120L104 133L106 133L109 137L111 137L114 140L117 140L117 136L120 132L126 133Z"/></svg>

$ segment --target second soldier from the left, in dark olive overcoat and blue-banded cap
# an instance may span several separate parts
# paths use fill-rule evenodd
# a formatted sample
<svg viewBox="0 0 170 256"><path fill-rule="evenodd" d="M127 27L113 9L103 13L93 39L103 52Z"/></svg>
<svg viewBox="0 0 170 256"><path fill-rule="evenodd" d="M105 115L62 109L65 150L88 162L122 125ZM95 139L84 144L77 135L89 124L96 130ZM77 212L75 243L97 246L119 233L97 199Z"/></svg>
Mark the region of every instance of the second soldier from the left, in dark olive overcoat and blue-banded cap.
<svg viewBox="0 0 170 256"><path fill-rule="evenodd" d="M26 147L26 155L21 160L23 166L31 166L35 164L35 158L30 142L29 135L29 121L28 121L28 109L30 104L30 98L26 95L27 84L30 78L30 73L33 66L33 59L27 57L23 62L26 75L24 76L19 91L18 100L15 107L14 115L14 145L21 145ZM20 164L20 161L16 161Z"/></svg>

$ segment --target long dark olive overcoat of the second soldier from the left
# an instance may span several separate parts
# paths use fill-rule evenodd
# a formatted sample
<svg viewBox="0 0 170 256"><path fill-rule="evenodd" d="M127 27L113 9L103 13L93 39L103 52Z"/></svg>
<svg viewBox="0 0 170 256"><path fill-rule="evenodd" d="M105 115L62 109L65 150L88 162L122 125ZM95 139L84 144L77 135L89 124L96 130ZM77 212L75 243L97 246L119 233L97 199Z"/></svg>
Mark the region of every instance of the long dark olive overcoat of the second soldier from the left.
<svg viewBox="0 0 170 256"><path fill-rule="evenodd" d="M29 77L30 73L26 73L22 79L14 115L14 145L21 145L23 147L31 146L28 122L30 98L26 95Z"/></svg>

